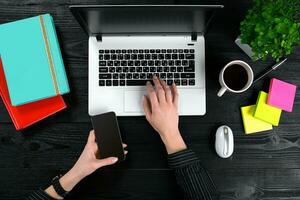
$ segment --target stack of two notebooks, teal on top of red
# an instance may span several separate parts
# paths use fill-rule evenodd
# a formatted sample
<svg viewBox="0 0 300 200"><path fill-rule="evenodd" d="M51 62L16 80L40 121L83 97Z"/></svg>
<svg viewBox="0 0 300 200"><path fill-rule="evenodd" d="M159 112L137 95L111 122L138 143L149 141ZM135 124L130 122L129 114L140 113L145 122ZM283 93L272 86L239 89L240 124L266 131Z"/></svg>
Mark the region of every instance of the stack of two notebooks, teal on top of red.
<svg viewBox="0 0 300 200"><path fill-rule="evenodd" d="M66 108L69 85L49 14L0 25L0 44L0 95L17 130Z"/></svg>

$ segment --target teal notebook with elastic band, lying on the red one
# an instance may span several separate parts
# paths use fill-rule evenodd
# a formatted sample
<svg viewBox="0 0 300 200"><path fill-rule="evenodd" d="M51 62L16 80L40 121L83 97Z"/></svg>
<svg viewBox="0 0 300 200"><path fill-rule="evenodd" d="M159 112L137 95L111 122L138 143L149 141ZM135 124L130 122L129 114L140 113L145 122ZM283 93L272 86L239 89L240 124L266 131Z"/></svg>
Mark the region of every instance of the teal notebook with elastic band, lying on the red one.
<svg viewBox="0 0 300 200"><path fill-rule="evenodd" d="M70 91L49 14L0 25L0 56L13 106Z"/></svg>

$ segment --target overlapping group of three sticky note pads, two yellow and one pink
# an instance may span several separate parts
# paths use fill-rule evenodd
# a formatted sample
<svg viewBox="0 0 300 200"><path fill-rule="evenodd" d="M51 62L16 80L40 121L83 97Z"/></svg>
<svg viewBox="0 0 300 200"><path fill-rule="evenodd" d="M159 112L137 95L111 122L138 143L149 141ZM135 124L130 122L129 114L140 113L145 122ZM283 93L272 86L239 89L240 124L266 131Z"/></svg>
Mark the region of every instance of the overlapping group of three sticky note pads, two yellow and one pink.
<svg viewBox="0 0 300 200"><path fill-rule="evenodd" d="M292 112L296 86L273 78L269 93L260 91L256 105L241 107L246 134L267 131L278 126L282 110Z"/></svg>

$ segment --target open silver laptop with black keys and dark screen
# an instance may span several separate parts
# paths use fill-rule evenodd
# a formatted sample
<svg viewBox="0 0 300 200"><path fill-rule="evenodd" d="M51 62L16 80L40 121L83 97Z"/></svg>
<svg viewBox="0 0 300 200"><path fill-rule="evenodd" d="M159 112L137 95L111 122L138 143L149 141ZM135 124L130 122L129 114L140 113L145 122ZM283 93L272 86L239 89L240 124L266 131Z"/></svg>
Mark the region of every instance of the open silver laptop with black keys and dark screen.
<svg viewBox="0 0 300 200"><path fill-rule="evenodd" d="M144 115L153 75L179 91L179 115L204 115L204 34L222 5L73 5L88 34L88 110Z"/></svg>

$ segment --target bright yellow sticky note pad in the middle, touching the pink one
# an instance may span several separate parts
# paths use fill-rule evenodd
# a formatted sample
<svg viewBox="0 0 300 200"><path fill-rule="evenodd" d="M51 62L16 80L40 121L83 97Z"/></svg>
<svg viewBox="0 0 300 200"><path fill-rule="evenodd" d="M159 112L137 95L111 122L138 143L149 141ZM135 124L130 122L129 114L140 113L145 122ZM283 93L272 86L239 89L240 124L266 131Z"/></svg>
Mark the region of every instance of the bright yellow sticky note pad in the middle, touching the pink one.
<svg viewBox="0 0 300 200"><path fill-rule="evenodd" d="M268 93L260 91L256 101L254 117L273 124L274 126L278 126L281 116L281 109L268 105L267 99Z"/></svg>

